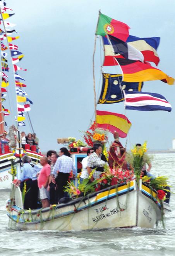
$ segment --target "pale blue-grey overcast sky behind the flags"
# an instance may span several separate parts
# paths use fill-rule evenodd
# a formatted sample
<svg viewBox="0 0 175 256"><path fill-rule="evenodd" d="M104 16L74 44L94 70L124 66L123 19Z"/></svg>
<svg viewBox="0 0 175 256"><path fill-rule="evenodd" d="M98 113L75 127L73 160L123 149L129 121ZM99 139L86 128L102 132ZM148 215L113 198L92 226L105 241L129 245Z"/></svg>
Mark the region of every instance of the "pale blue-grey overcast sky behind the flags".
<svg viewBox="0 0 175 256"><path fill-rule="evenodd" d="M175 1L167 0L7 0L7 7L16 15L8 19L16 23L20 39L13 41L25 57L18 66L26 80L29 99L33 101L31 120L41 150L58 150L58 137L81 139L94 112L92 56L98 10L125 22L130 35L161 37L158 68L175 77ZM16 35L14 35L16 36ZM5 41L4 41L5 43ZM100 57L101 56L101 57ZM95 55L96 90L101 90L100 65L103 52L97 40ZM9 64L10 65L10 64ZM154 65L153 65L154 66ZM113 68L106 72L113 72ZM10 70L12 71L12 69ZM15 88L11 75L8 88L12 117L16 114ZM132 123L127 148L148 141L149 149L170 149L175 137L175 86L162 81L144 83L144 92L162 94L171 104L172 112L126 111ZM7 102L4 104L8 106ZM97 106L124 114L124 103ZM13 121L6 118L7 124ZM29 126L21 128L31 132ZM109 136L110 141L112 136ZM120 140L125 145L125 139Z"/></svg>

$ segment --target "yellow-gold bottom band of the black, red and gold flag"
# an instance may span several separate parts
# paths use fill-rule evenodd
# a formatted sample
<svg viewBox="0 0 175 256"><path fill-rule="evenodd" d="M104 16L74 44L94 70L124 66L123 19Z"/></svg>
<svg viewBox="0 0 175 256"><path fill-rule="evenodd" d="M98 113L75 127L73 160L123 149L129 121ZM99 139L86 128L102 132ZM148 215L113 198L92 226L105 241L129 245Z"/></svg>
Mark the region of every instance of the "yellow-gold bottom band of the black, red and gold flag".
<svg viewBox="0 0 175 256"><path fill-rule="evenodd" d="M124 74L125 82L142 82L142 81L150 81L150 80L162 80L166 79L168 85L173 85L174 78L167 76L165 73L158 69L146 69L134 74Z"/></svg>

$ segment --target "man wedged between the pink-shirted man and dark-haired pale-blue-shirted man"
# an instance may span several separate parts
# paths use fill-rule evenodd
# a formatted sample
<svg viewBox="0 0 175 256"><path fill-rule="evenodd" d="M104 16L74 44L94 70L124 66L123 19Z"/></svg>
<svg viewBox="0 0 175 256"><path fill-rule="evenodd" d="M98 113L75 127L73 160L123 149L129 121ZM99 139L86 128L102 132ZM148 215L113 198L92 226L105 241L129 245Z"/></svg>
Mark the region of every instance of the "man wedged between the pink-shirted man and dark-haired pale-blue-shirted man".
<svg viewBox="0 0 175 256"><path fill-rule="evenodd" d="M53 167L57 161L57 158L58 158L58 155L52 153L52 155L51 155L51 174L53 171ZM56 186L56 182L55 182L55 177L52 175L49 178L49 185L48 185L47 190L50 193L50 204L57 204L58 203L58 201L57 201L57 186Z"/></svg>

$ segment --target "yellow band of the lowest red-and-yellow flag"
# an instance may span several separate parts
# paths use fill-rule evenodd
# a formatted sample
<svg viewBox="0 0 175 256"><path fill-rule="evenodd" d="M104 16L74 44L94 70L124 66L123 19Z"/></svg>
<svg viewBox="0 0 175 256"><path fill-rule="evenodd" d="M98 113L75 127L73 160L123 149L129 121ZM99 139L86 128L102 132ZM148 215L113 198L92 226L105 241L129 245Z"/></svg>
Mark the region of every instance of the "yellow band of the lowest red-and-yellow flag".
<svg viewBox="0 0 175 256"><path fill-rule="evenodd" d="M97 115L96 123L113 125L125 133L128 133L131 126L126 119L114 115Z"/></svg>

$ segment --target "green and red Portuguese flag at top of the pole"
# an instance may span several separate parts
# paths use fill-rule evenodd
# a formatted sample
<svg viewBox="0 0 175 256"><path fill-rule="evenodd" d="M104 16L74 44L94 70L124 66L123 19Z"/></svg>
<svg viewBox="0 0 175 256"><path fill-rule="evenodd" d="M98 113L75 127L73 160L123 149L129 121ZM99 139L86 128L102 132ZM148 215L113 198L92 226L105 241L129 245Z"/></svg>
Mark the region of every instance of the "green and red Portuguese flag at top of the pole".
<svg viewBox="0 0 175 256"><path fill-rule="evenodd" d="M129 29L127 24L100 13L96 35L106 36L109 34L126 42L129 36Z"/></svg>

